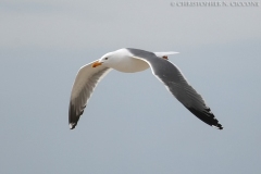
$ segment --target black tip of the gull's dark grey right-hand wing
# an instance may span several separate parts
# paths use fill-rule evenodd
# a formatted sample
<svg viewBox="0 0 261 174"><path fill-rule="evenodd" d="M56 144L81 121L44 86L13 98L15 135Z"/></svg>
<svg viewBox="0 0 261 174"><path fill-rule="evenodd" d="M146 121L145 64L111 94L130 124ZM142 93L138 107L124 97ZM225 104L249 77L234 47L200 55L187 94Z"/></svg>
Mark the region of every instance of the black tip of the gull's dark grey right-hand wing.
<svg viewBox="0 0 261 174"><path fill-rule="evenodd" d="M211 112L211 110L208 108L203 111L199 111L194 108L187 108L194 115L196 115L198 119L207 123L208 125L215 127L217 129L223 129L223 126L219 123L219 121L214 117L214 114Z"/></svg>

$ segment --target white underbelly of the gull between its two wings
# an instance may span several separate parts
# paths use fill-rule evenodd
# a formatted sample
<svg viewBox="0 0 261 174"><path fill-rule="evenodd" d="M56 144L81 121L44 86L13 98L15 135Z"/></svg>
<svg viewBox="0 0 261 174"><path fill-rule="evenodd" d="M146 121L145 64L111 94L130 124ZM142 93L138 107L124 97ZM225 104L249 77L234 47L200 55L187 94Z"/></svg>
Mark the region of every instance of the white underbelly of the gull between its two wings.
<svg viewBox="0 0 261 174"><path fill-rule="evenodd" d="M135 73L149 69L149 64L142 60L127 58L114 64L112 69L124 73Z"/></svg>

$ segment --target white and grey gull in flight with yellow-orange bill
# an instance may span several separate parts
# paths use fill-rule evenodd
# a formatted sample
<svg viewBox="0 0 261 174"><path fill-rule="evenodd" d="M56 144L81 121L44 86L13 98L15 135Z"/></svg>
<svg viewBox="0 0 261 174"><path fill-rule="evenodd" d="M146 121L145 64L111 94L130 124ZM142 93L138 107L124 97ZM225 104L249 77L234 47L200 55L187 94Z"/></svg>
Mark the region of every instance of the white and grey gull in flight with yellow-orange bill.
<svg viewBox="0 0 261 174"><path fill-rule="evenodd" d="M174 53L177 52L149 52L123 48L82 66L75 78L70 99L70 128L75 128L98 82L112 69L124 73L136 73L150 67L152 74L194 115L210 126L223 129L202 97L187 83L178 67L167 60L167 55Z"/></svg>

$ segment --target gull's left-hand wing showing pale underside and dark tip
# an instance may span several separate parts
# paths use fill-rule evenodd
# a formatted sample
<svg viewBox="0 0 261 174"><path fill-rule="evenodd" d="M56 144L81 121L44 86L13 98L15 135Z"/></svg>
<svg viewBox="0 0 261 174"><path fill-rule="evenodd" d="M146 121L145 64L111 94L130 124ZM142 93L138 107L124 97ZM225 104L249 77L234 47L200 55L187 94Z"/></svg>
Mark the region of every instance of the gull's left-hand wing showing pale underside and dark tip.
<svg viewBox="0 0 261 174"><path fill-rule="evenodd" d="M79 116L84 113L86 103L98 82L111 70L103 65L92 67L92 63L79 69L73 85L69 107L69 124L71 129L77 125Z"/></svg>

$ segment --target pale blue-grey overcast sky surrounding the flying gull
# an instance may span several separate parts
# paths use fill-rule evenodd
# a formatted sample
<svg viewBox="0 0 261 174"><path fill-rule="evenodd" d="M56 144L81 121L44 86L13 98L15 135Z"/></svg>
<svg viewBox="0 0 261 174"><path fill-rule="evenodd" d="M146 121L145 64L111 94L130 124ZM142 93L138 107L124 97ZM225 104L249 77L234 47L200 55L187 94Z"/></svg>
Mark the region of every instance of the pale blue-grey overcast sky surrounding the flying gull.
<svg viewBox="0 0 261 174"><path fill-rule="evenodd" d="M171 2L0 0L1 174L261 171L261 2ZM194 116L147 70L112 71L70 130L78 69L124 47L181 52L170 61L224 129Z"/></svg>

